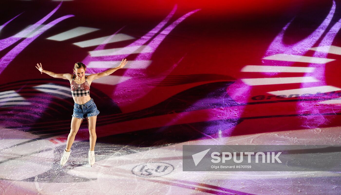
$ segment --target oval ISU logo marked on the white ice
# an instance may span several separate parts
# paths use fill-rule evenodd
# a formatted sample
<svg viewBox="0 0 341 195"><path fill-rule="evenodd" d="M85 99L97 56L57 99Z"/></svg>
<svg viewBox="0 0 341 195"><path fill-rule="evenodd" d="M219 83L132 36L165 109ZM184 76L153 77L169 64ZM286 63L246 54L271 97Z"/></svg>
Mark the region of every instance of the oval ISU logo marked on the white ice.
<svg viewBox="0 0 341 195"><path fill-rule="evenodd" d="M174 170L174 166L165 162L149 162L135 166L131 172L139 177L160 177Z"/></svg>

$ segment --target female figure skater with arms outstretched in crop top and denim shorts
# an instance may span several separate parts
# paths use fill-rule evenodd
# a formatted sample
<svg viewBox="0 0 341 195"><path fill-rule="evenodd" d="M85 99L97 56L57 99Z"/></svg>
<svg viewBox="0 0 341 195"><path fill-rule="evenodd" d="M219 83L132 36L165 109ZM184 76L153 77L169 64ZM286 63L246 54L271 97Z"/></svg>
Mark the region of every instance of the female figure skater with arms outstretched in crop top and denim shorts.
<svg viewBox="0 0 341 195"><path fill-rule="evenodd" d="M95 163L95 143L96 143L96 119L97 115L100 113L97 110L96 104L93 102L90 97L90 85L94 79L101 78L103 76L107 76L112 74L116 70L123 68L124 65L127 64L127 59L122 59L119 66L107 70L105 72L85 75L86 66L77 62L73 68L74 74L56 74L54 72L50 72L43 69L42 64L40 63L35 66L41 74L46 73L55 78L63 78L68 79L71 85L71 95L73 100L75 101L75 105L73 108L72 120L71 120L71 130L68 136L68 142L66 142L66 148L64 150L64 154L60 159L60 165L63 166L66 161L68 161L70 153L71 153L71 145L75 140L75 136L80 127L80 124L83 122L83 119L86 118L88 121L88 128L90 133L90 149L88 153L89 164L92 166Z"/></svg>

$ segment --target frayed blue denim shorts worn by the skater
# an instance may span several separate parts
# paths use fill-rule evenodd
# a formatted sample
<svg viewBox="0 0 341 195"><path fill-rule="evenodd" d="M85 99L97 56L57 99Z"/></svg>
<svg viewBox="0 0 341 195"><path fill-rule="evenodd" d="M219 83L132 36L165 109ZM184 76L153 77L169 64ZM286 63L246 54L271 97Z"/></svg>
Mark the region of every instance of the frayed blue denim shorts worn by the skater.
<svg viewBox="0 0 341 195"><path fill-rule="evenodd" d="M97 109L96 104L92 98L85 104L76 104L73 106L72 116L78 119L84 119L88 117L97 116L100 111Z"/></svg>

